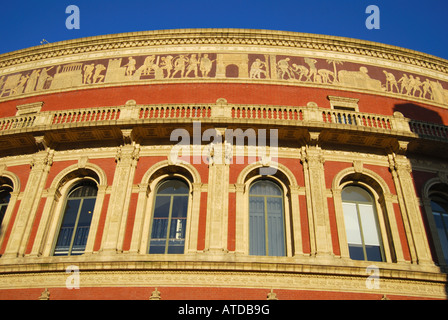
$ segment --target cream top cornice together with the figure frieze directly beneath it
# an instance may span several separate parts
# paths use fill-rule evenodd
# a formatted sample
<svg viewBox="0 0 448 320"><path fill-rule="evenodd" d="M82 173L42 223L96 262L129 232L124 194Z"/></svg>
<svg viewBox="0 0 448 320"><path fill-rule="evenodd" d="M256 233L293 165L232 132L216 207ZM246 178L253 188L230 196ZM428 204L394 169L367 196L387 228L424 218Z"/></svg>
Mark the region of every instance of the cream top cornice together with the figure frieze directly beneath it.
<svg viewBox="0 0 448 320"><path fill-rule="evenodd" d="M0 55L2 101L117 86L242 82L448 106L448 61L332 36L167 30L70 40Z"/></svg>

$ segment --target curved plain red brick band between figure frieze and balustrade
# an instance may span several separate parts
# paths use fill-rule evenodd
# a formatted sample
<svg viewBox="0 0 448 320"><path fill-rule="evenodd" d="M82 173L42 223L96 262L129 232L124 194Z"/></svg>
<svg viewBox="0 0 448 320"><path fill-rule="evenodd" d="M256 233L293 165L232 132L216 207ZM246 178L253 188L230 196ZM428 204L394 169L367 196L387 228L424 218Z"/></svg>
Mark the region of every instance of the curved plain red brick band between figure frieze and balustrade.
<svg viewBox="0 0 448 320"><path fill-rule="evenodd" d="M306 106L313 101L319 107L330 108L328 95L360 99L360 112L392 115L400 111L409 118L448 124L445 109L397 98L334 89L225 83L136 85L43 94L0 103L0 117L14 116L17 105L38 101L45 103L42 111L124 105L131 99L138 104L159 104L215 103L218 98L236 104L285 106Z"/></svg>

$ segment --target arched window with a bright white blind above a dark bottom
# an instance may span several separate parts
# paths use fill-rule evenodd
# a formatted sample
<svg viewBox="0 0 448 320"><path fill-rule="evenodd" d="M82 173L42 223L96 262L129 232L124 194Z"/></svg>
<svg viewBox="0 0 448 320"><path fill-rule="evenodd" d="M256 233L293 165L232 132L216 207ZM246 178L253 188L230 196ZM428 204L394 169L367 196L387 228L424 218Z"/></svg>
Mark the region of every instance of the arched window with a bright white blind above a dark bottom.
<svg viewBox="0 0 448 320"><path fill-rule="evenodd" d="M350 258L383 261L384 253L372 195L364 188L348 186L342 190L342 205Z"/></svg>

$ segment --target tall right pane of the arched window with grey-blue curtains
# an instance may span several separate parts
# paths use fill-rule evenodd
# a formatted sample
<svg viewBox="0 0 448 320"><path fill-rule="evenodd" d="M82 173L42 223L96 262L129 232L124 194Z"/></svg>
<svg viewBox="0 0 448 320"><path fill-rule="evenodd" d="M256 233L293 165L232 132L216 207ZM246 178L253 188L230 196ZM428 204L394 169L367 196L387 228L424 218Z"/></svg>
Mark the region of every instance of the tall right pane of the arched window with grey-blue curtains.
<svg viewBox="0 0 448 320"><path fill-rule="evenodd" d="M285 255L283 199L267 197L268 242L270 256Z"/></svg>

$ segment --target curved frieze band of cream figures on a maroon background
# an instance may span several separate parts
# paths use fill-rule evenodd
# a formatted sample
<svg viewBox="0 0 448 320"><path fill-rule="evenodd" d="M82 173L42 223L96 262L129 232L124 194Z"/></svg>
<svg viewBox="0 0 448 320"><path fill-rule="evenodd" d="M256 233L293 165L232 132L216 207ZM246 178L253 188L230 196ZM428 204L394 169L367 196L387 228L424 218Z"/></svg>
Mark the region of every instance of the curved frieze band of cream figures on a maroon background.
<svg viewBox="0 0 448 320"><path fill-rule="evenodd" d="M101 83L171 79L273 79L404 95L448 104L446 83L334 58L262 53L150 54L79 61L0 76L0 98Z"/></svg>

